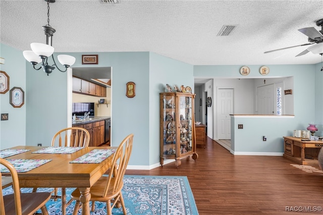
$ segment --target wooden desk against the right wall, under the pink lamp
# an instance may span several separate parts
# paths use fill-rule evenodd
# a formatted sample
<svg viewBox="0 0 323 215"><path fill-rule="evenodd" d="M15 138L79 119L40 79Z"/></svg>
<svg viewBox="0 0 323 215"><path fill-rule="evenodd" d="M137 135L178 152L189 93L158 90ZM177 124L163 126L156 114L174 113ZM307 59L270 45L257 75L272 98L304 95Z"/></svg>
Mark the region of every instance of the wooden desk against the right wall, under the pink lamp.
<svg viewBox="0 0 323 215"><path fill-rule="evenodd" d="M302 138L284 137L283 156L300 165L318 166L317 155L322 146L321 140L302 141Z"/></svg>

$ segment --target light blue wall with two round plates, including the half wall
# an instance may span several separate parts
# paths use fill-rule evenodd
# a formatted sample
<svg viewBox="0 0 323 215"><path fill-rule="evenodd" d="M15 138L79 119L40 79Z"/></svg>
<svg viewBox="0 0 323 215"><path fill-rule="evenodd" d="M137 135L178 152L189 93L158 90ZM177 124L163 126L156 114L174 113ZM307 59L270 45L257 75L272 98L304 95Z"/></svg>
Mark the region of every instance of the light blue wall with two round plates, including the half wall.
<svg viewBox="0 0 323 215"><path fill-rule="evenodd" d="M194 77L208 78L246 78L239 73L240 67L236 66L194 66ZM267 65L270 73L262 76L259 68L262 65L247 65L250 74L247 78L270 77L294 77L294 115L293 119L279 118L237 118L232 121L232 137L234 139L233 150L239 152L266 152L282 153L283 136L293 135L293 130L306 130L309 122L319 123L321 119L315 118L315 112L321 112L316 105L315 94L321 94L322 90L315 91L315 79L318 73L315 65ZM321 75L319 75L321 76ZM237 129L238 124L243 124L243 129ZM320 134L322 129L317 132ZM262 141L262 136L267 136L267 141Z"/></svg>

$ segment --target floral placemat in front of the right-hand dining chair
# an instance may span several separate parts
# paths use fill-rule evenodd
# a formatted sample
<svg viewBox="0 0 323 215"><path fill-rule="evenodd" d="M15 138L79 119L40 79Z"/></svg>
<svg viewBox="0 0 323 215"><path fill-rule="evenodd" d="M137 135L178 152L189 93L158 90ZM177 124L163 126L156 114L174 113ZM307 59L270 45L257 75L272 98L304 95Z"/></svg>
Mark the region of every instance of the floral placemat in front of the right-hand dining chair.
<svg viewBox="0 0 323 215"><path fill-rule="evenodd" d="M71 164L99 164L115 153L116 149L93 149L82 156L72 160Z"/></svg>

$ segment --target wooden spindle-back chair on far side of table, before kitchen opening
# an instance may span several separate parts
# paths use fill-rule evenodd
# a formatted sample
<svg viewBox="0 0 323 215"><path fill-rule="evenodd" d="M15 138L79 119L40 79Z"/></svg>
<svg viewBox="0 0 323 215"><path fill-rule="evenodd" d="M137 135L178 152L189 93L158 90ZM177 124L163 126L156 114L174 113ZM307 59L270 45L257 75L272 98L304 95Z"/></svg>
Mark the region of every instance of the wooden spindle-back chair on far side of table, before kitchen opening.
<svg viewBox="0 0 323 215"><path fill-rule="evenodd" d="M51 140L51 146L58 147L87 147L90 141L90 133L85 128L70 127L58 131ZM63 187L61 196L58 195L58 188L54 188L52 198L56 201L62 199L62 214L66 214L66 207L72 202L66 201L66 189ZM36 192L36 188L33 189Z"/></svg>

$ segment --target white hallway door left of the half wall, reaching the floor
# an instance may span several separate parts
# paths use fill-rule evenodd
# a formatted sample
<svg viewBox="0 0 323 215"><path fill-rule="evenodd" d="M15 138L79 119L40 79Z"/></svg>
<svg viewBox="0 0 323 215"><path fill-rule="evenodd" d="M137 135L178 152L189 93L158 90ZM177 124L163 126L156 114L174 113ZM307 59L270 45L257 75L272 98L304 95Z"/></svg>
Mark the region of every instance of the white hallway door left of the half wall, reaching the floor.
<svg viewBox="0 0 323 215"><path fill-rule="evenodd" d="M218 139L231 139L230 114L233 114L233 89L218 89L217 113Z"/></svg>

